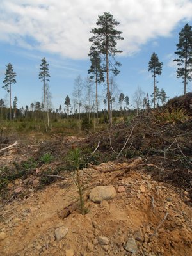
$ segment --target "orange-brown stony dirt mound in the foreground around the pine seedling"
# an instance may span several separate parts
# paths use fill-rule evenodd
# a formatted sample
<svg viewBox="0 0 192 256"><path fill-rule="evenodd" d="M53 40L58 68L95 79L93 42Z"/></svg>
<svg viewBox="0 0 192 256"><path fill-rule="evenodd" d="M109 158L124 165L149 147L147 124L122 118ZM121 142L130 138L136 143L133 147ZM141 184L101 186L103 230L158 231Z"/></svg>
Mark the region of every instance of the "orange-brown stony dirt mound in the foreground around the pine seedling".
<svg viewBox="0 0 192 256"><path fill-rule="evenodd" d="M26 199L4 205L0 254L190 255L192 214L191 207L184 204L188 192L181 195L180 189L153 180L141 170L143 161L138 163L135 167L140 171L114 162L81 170L83 181L91 188L111 180L110 186L116 190L111 200L99 204L86 200L88 213L84 216L73 211L62 218L63 209L76 201L70 173L43 191L31 189Z"/></svg>

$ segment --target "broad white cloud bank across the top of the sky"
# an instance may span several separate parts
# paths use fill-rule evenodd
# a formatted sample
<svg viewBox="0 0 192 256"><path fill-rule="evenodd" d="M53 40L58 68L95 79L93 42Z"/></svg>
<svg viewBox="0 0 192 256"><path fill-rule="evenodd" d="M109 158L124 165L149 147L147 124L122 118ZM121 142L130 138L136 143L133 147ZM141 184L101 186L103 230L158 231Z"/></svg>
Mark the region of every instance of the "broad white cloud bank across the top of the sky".
<svg viewBox="0 0 192 256"><path fill-rule="evenodd" d="M0 40L65 58L86 58L90 29L105 11L120 22L124 40L118 48L124 55L157 36L170 36L180 20L192 19L191 0L1 0Z"/></svg>

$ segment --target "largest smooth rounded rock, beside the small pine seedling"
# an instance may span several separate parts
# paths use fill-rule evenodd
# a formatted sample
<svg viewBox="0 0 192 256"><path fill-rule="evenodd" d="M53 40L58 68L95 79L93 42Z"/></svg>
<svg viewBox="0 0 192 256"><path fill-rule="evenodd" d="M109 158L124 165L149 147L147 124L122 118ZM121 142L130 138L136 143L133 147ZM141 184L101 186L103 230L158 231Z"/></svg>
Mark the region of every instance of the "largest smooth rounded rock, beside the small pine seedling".
<svg viewBox="0 0 192 256"><path fill-rule="evenodd" d="M116 191L113 186L97 186L90 192L90 200L94 203L100 203L103 200L115 198Z"/></svg>

